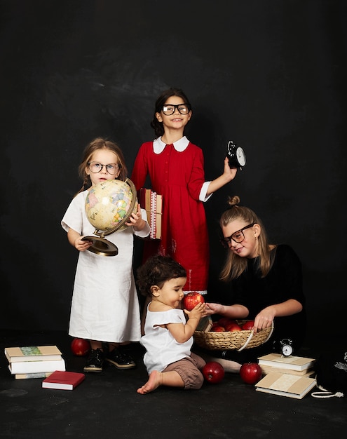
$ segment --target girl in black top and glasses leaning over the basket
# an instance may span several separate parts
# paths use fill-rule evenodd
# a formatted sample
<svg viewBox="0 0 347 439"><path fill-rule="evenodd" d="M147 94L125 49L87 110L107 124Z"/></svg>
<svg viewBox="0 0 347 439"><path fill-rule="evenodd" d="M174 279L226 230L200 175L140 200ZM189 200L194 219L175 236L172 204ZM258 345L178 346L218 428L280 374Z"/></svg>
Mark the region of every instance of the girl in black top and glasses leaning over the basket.
<svg viewBox="0 0 347 439"><path fill-rule="evenodd" d="M280 349L283 339L292 341L297 352L306 332L305 297L302 290L301 262L289 245L270 244L261 219L250 209L238 205L240 198L229 199L231 208L220 219L229 248L221 280L231 283L226 304L207 303L208 314L254 320L254 332L274 325L265 344L241 352L224 351L222 358L238 363Z"/></svg>

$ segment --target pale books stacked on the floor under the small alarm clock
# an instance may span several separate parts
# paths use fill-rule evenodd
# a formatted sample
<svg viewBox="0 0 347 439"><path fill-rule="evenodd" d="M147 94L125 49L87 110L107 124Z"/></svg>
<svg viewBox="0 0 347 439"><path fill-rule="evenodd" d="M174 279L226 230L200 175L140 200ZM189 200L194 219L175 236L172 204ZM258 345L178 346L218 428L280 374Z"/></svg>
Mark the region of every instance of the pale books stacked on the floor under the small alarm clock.
<svg viewBox="0 0 347 439"><path fill-rule="evenodd" d="M257 391L301 399L316 385L314 358L269 353L258 363L265 377L256 384Z"/></svg>

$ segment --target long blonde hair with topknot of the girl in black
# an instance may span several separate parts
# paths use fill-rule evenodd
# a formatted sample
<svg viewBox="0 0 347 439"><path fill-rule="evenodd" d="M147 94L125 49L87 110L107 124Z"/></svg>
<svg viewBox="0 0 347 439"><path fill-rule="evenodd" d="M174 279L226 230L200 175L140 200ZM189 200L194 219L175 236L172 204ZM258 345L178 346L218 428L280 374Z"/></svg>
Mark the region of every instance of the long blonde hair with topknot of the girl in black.
<svg viewBox="0 0 347 439"><path fill-rule="evenodd" d="M268 243L268 236L264 225L252 209L238 205L240 203L240 197L237 195L229 197L228 203L231 207L222 213L222 216L219 219L220 227L226 227L229 223L236 221L236 219L240 219L247 224L256 223L261 227L261 232L258 236L259 256L257 263L259 270L261 271L261 277L264 278L264 276L266 276L271 270L275 256L275 252L271 252L271 246ZM229 250L219 278L222 281L231 281L232 279L238 278L245 269L247 269L247 258L240 257Z"/></svg>

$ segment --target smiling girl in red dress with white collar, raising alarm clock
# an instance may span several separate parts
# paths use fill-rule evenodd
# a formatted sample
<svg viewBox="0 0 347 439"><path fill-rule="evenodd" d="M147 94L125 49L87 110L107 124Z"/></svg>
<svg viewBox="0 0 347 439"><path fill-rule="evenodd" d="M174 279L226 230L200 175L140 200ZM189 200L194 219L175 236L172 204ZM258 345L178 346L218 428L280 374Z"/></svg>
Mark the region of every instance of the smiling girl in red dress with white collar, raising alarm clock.
<svg viewBox="0 0 347 439"><path fill-rule="evenodd" d="M149 175L151 189L163 196L162 238L145 243L144 259L171 256L186 269L184 292L205 294L210 255L203 202L231 182L237 169L225 158L223 174L205 182L203 151L184 136L191 115L182 90L170 88L158 97L151 121L157 138L140 147L131 180L139 190Z"/></svg>

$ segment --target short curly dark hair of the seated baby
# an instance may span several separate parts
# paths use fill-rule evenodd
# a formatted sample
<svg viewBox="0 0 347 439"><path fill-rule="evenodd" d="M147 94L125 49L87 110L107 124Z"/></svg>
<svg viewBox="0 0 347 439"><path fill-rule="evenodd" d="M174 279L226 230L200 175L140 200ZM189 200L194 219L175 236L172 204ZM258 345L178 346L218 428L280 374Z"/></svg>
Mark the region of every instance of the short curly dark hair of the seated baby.
<svg viewBox="0 0 347 439"><path fill-rule="evenodd" d="M162 288L166 281L186 278L186 270L170 256L152 256L137 269L137 285L142 295L151 297L151 287Z"/></svg>

